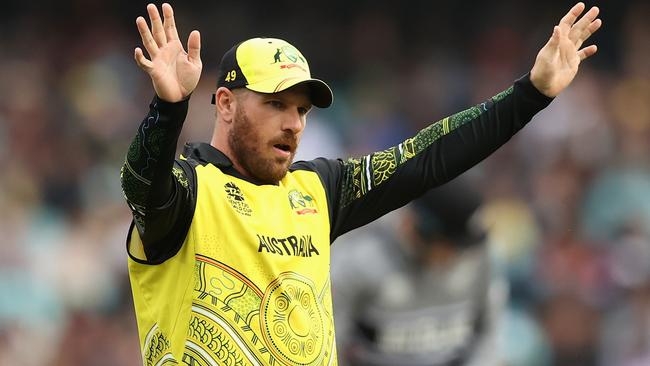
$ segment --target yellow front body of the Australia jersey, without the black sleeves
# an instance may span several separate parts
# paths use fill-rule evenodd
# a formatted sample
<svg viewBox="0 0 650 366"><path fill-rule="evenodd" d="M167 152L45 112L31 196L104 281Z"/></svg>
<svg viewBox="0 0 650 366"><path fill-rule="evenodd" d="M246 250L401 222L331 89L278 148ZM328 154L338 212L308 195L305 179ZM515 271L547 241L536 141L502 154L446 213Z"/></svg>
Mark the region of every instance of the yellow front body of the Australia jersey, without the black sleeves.
<svg viewBox="0 0 650 366"><path fill-rule="evenodd" d="M317 174L257 186L211 164L195 170L196 210L179 253L159 265L129 259L144 364L336 365Z"/></svg>

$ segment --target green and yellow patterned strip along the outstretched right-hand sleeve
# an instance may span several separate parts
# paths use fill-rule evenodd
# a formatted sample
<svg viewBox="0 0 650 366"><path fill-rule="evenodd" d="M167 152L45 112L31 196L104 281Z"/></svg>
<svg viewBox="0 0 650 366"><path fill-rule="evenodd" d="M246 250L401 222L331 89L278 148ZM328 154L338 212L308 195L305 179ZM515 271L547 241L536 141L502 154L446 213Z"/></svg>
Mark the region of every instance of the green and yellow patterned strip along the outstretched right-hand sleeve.
<svg viewBox="0 0 650 366"><path fill-rule="evenodd" d="M350 158L344 163L341 206L345 207L387 181L397 168L420 154L443 136L458 127L475 121L495 103L512 94L513 87L490 100L437 121L414 137L397 146L361 158Z"/></svg>

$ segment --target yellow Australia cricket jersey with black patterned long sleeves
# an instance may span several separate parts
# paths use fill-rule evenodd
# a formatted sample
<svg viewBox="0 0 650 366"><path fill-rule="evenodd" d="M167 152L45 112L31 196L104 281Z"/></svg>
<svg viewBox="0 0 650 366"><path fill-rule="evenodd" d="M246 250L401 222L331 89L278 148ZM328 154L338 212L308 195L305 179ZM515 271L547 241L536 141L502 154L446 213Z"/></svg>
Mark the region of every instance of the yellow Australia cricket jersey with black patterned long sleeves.
<svg viewBox="0 0 650 366"><path fill-rule="evenodd" d="M174 162L188 101L155 97L121 172L144 364L336 365L330 243L478 163L550 101L525 76L389 149L260 185L208 144Z"/></svg>

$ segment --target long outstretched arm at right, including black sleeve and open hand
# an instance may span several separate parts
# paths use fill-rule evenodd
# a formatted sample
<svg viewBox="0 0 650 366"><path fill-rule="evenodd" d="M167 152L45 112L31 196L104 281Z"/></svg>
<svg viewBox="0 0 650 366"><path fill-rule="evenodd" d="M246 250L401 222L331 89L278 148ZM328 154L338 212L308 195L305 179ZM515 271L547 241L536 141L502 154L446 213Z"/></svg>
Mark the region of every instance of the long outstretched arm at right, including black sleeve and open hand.
<svg viewBox="0 0 650 366"><path fill-rule="evenodd" d="M331 239L401 207L479 163L545 108L575 77L596 46L580 48L601 25L592 8L578 22L576 4L513 86L443 118L401 144L370 155L313 162L327 187Z"/></svg>

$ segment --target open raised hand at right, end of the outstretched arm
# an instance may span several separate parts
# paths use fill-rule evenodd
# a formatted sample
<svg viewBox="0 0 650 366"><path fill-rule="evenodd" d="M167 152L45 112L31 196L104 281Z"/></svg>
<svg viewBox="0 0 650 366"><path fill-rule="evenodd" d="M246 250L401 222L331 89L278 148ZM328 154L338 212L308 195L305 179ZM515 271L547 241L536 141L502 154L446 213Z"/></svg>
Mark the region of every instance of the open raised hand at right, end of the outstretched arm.
<svg viewBox="0 0 650 366"><path fill-rule="evenodd" d="M599 10L595 6L576 22L584 10L585 4L574 5L553 28L553 35L537 54L530 80L548 97L560 94L576 76L580 62L598 50L596 45L580 48L602 25L596 19Z"/></svg>

